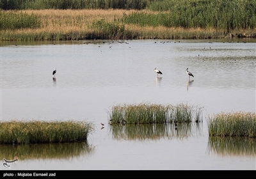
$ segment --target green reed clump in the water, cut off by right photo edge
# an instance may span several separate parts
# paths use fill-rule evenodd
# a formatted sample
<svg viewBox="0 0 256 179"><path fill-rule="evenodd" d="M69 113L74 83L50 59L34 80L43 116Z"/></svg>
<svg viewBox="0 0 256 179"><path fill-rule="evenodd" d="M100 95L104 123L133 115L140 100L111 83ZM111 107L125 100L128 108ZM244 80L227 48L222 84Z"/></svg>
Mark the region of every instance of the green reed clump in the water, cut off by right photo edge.
<svg viewBox="0 0 256 179"><path fill-rule="evenodd" d="M219 113L209 117L209 136L256 137L256 113Z"/></svg>

